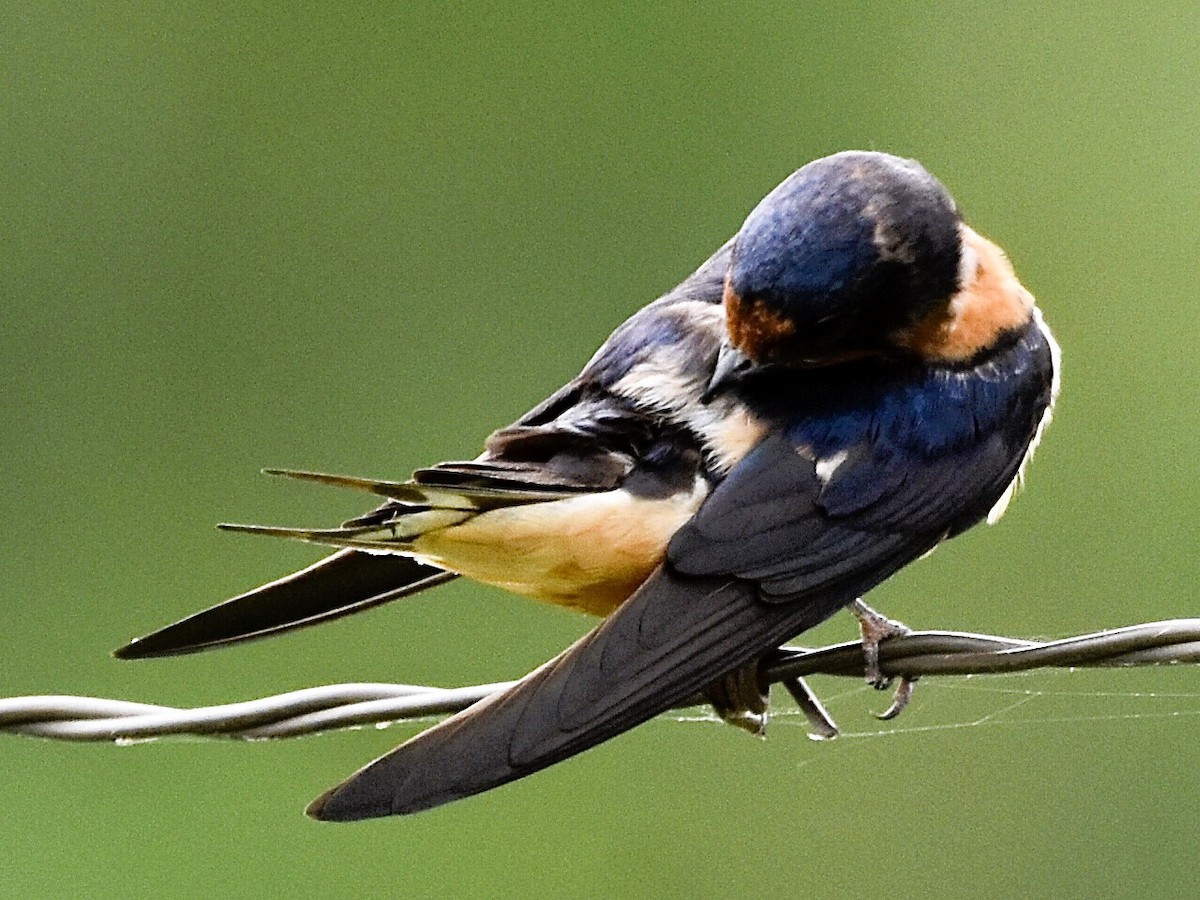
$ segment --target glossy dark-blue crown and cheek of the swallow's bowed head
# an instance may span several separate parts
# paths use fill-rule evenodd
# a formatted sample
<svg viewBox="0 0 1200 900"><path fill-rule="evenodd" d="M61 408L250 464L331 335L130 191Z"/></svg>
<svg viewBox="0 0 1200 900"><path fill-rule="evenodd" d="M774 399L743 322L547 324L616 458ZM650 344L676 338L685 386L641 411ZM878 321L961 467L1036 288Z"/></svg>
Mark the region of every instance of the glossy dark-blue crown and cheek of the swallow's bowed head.
<svg viewBox="0 0 1200 900"><path fill-rule="evenodd" d="M959 215L918 163L844 152L811 162L760 203L738 232L727 302L787 326L784 347L754 335L761 361L868 349L944 302L958 281Z"/></svg>

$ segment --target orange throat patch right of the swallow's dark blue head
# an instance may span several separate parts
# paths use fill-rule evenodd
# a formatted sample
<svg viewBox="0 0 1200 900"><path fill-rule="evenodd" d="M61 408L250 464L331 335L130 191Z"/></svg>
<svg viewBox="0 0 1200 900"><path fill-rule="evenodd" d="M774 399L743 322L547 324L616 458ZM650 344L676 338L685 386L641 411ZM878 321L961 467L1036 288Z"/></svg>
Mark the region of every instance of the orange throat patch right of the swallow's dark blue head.
<svg viewBox="0 0 1200 900"><path fill-rule="evenodd" d="M896 346L931 361L966 362L1033 312L1033 296L1003 251L966 226L961 232L964 260L973 260L974 271L961 272L961 287L944 307L893 335Z"/></svg>

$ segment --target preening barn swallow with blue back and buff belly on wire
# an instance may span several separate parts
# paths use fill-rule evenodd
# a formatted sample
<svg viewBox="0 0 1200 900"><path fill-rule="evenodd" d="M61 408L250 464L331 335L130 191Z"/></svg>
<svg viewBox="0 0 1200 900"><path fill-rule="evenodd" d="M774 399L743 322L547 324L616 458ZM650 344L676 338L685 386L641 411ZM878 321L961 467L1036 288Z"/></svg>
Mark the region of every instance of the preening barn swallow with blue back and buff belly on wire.
<svg viewBox="0 0 1200 900"><path fill-rule="evenodd" d="M281 473L385 502L338 528L227 526L338 551L116 655L259 637L457 575L606 617L314 800L320 820L468 797L697 695L761 725L760 660L1000 517L1058 368L1033 298L932 175L836 154L478 458L408 481Z"/></svg>

